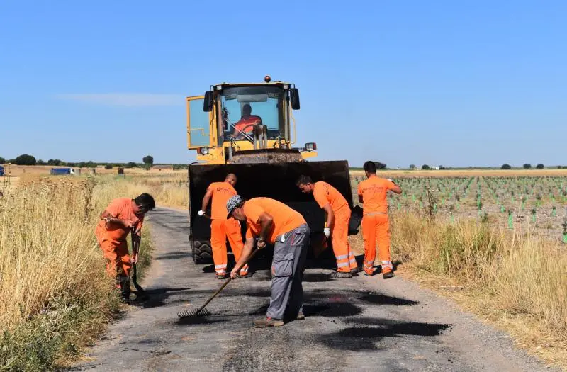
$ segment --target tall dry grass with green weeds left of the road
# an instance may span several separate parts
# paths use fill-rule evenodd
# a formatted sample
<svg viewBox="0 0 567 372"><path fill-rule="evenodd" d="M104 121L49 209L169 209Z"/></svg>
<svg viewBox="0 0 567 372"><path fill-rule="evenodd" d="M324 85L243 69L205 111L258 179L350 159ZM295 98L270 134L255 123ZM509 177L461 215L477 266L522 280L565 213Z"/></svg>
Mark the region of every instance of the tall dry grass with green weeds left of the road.
<svg viewBox="0 0 567 372"><path fill-rule="evenodd" d="M118 181L26 176L0 198L0 369L45 371L101 332L119 303L94 227L112 198L140 192Z"/></svg>

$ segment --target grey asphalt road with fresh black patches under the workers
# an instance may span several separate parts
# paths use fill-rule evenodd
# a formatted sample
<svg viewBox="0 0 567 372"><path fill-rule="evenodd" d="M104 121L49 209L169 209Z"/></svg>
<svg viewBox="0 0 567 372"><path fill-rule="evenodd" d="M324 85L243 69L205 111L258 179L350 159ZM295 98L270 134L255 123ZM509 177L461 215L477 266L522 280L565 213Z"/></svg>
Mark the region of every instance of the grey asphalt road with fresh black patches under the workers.
<svg viewBox="0 0 567 372"><path fill-rule="evenodd" d="M74 371L549 371L507 335L400 277L330 279L308 262L305 320L254 329L269 304L269 271L232 281L210 317L179 322L222 283L189 252L184 212L148 215L154 260L130 306Z"/></svg>

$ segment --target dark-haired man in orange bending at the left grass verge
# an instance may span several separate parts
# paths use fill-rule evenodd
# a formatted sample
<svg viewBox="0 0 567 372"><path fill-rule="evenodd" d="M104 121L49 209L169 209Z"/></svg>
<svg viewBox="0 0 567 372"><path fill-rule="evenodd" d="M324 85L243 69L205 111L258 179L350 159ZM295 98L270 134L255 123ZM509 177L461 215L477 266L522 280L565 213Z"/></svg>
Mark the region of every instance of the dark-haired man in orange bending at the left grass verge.
<svg viewBox="0 0 567 372"><path fill-rule="evenodd" d="M137 252L128 254L128 233L134 234L136 242L142 235L144 215L155 208L154 198L142 193L135 199L117 198L101 213L95 235L108 260L106 272L116 277L123 300L130 299L130 269L137 262Z"/></svg>

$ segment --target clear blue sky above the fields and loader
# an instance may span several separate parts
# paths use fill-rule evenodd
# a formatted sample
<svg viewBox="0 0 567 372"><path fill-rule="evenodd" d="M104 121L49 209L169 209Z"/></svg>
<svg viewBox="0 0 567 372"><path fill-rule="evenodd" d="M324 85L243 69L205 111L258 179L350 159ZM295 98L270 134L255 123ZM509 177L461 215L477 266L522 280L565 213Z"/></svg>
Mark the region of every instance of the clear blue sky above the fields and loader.
<svg viewBox="0 0 567 372"><path fill-rule="evenodd" d="M306 4L309 3L309 4ZM291 81L318 159L567 164L566 1L3 1L0 156L191 162L184 97Z"/></svg>

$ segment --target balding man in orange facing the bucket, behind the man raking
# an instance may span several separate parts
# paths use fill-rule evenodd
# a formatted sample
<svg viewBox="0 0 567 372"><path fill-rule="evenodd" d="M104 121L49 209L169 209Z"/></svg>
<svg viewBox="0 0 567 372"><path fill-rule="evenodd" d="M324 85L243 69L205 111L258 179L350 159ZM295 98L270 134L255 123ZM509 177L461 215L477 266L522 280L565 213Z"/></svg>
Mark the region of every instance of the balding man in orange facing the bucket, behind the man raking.
<svg viewBox="0 0 567 372"><path fill-rule="evenodd" d="M213 262L215 264L215 273L217 278L225 279L226 266L228 263L226 239L230 243L235 259L240 258L242 253L242 232L240 230L240 222L234 218L226 217L226 203L228 199L235 196L237 178L235 174L228 174L223 182L213 182L207 188L207 192L203 197L201 210L198 215L205 215L210 199L213 199L213 205L210 212L210 248L213 250ZM248 276L248 265L242 266L240 276L246 278Z"/></svg>

